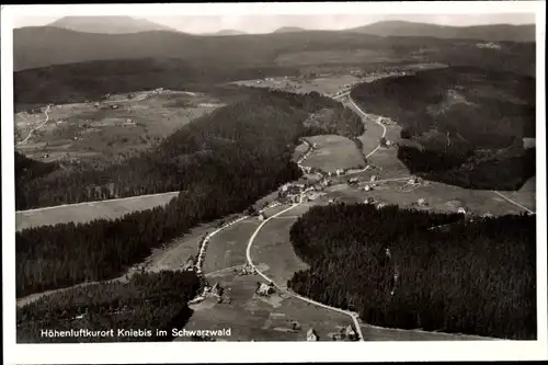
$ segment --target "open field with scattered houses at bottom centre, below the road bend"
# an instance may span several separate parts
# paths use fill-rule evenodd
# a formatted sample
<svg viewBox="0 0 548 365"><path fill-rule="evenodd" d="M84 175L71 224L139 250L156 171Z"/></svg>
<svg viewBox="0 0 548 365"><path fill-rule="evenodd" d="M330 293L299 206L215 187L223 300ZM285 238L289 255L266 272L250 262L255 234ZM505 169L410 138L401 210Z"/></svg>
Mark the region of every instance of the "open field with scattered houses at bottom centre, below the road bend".
<svg viewBox="0 0 548 365"><path fill-rule="evenodd" d="M313 328L320 341L330 341L329 333L338 326L347 326L347 316L308 305L287 295L261 297L254 294L260 276L235 276L231 272L210 278L229 294L230 304L206 299L191 306L194 310L186 330L230 329L231 337L220 341L305 341L306 332ZM294 322L298 323L294 330ZM299 328L300 327L300 328ZM179 338L179 341L187 339Z"/></svg>

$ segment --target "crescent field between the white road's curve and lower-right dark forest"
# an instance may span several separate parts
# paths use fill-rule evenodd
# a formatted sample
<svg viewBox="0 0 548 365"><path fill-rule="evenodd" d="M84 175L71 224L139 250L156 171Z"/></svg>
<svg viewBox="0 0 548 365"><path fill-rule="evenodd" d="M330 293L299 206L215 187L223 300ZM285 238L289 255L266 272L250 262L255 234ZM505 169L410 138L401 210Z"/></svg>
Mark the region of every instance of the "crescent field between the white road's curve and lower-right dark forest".
<svg viewBox="0 0 548 365"><path fill-rule="evenodd" d="M261 229L251 247L251 256L256 264L265 264L264 274L276 284L287 286L287 281L299 270L309 266L293 250L289 229L297 217L294 209L269 221Z"/></svg>

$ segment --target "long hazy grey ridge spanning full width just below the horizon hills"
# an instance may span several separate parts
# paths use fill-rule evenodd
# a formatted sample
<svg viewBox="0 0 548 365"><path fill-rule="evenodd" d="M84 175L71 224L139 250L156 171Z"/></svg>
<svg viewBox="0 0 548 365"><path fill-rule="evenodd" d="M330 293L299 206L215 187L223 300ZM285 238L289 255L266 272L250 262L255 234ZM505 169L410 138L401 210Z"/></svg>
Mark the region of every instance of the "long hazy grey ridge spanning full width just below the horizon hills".
<svg viewBox="0 0 548 365"><path fill-rule="evenodd" d="M225 70L277 66L283 55L310 58L322 65L326 53L340 65L353 67L364 52L385 62L438 61L453 66L482 66L534 75L535 44L501 43L499 49L479 48L477 41L426 37L380 37L352 32L307 31L295 33L198 36L175 32L93 34L52 26L14 30L14 71L85 62L176 58L201 69Z"/></svg>

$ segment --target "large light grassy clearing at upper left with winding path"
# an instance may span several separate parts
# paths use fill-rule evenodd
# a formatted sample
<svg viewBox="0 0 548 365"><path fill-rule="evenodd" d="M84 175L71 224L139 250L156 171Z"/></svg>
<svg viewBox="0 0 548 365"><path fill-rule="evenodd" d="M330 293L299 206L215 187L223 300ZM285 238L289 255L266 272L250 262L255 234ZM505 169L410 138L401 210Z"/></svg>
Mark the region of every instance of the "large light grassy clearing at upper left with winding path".
<svg viewBox="0 0 548 365"><path fill-rule="evenodd" d="M18 150L43 161L123 159L221 105L210 96L171 91L55 105L48 113L50 122ZM26 135L44 118L43 113L15 114L15 135Z"/></svg>

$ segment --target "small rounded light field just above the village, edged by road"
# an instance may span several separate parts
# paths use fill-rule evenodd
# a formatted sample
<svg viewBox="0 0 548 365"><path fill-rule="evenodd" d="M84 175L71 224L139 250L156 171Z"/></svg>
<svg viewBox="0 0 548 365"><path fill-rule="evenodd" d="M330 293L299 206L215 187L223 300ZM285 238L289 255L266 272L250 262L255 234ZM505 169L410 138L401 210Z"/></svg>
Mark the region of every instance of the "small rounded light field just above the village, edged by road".
<svg viewBox="0 0 548 365"><path fill-rule="evenodd" d="M321 135L310 137L309 140L317 144L318 148L302 162L302 166L319 168L328 172L365 166L356 144L349 138Z"/></svg>

